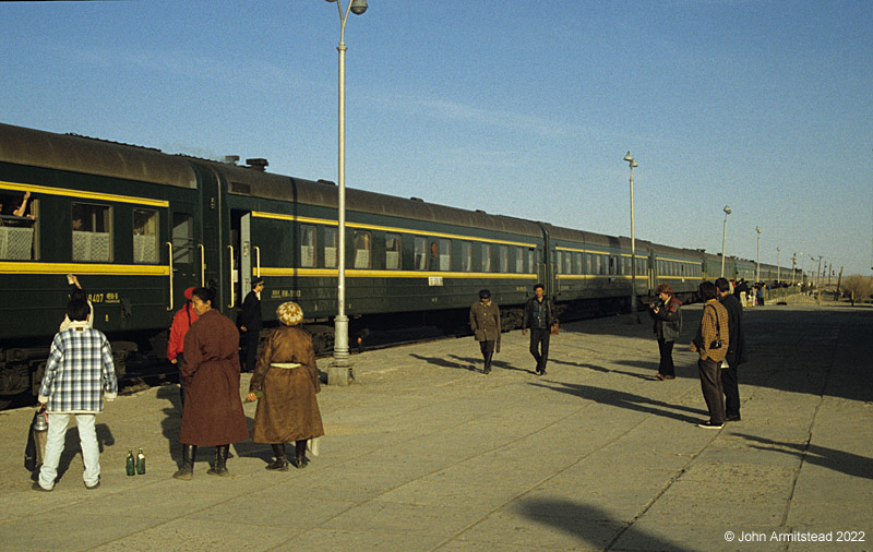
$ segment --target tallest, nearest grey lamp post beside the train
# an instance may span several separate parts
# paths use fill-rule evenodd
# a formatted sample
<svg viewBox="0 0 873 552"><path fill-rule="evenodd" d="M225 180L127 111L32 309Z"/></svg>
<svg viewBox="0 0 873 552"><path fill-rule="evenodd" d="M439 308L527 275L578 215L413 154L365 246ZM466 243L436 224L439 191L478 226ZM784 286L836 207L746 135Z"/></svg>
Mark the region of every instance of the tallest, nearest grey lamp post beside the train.
<svg viewBox="0 0 873 552"><path fill-rule="evenodd" d="M367 11L367 0L351 0L343 10L343 2L336 2L339 10L339 175L337 190L337 251L336 319L334 319L334 360L336 367L348 365L348 316L346 316L346 21L349 10L355 15Z"/></svg>

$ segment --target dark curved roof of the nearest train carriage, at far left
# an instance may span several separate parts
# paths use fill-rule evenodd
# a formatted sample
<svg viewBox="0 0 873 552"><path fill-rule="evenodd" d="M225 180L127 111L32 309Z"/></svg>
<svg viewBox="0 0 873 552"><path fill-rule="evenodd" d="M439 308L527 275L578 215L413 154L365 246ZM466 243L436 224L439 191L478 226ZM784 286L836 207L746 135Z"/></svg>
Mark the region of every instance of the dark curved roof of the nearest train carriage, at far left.
<svg viewBox="0 0 873 552"><path fill-rule="evenodd" d="M190 163L158 149L0 123L0 161L196 188Z"/></svg>

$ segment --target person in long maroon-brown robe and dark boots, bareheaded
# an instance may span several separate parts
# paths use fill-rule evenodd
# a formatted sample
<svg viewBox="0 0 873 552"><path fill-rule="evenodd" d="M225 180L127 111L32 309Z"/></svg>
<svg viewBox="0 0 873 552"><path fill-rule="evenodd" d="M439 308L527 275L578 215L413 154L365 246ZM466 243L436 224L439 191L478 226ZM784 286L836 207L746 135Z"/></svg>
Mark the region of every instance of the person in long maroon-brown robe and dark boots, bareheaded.
<svg viewBox="0 0 873 552"><path fill-rule="evenodd" d="M196 288L191 299L200 317L184 336L182 466L172 475L176 479L191 479L198 446L215 446L215 466L206 473L229 476L230 443L249 439L239 396L239 332L230 319L212 308L214 298L214 291Z"/></svg>

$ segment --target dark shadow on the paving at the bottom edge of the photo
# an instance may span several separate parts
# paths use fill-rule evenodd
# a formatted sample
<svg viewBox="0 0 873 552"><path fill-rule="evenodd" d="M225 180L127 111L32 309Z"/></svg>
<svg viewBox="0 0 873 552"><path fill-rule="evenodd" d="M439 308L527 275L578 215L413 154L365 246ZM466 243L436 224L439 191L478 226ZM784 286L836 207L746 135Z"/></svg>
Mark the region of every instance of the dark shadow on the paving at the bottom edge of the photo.
<svg viewBox="0 0 873 552"><path fill-rule="evenodd" d="M609 537L607 535L598 536L596 532L607 533L609 527L598 529L598 521L603 523L603 525L624 525L624 523L615 520L613 516L597 506L562 499L523 499L516 508L518 513L529 519L550 525L576 537L586 544L586 550L594 548L591 544L595 544L600 550L607 550L618 540L617 537L612 537L608 542L603 542ZM620 537L630 539L635 544L644 542L645 550L670 550L675 552L690 552L693 550L646 531L641 531L633 526L621 532Z"/></svg>

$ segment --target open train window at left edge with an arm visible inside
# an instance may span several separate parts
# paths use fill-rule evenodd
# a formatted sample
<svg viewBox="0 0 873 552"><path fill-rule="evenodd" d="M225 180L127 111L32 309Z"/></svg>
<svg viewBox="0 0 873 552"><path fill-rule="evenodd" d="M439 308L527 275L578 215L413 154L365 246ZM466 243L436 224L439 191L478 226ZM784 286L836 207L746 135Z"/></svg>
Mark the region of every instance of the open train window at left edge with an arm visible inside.
<svg viewBox="0 0 873 552"><path fill-rule="evenodd" d="M29 192L0 193L0 259L31 261L36 259L38 202Z"/></svg>

